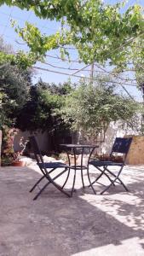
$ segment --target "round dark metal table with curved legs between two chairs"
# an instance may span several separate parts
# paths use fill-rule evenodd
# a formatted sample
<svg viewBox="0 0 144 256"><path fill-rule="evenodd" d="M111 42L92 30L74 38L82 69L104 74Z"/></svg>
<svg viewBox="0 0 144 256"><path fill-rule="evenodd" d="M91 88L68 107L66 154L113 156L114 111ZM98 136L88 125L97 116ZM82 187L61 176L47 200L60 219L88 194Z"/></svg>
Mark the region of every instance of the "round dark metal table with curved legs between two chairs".
<svg viewBox="0 0 144 256"><path fill-rule="evenodd" d="M72 183L72 191L71 191L71 196L73 194L74 191L74 185L75 185L75 181L76 181L76 172L77 170L81 171L81 178L82 178L82 184L83 184L83 188L85 188L84 186L84 175L83 175L83 171L87 170L87 175L88 175L88 179L89 179L89 186L91 187L91 189L93 189L94 193L95 189L93 187L93 184L90 181L89 178L89 160L91 155L93 154L93 152L95 151L95 148L99 148L98 145L80 145L80 144L60 144L60 147L65 148L66 150L66 154L67 154L67 159L68 159L68 174L66 177L66 181L63 184L63 188L66 185L66 182L68 180L68 177L70 175L70 171L71 169L74 170L74 177L73 177L73 183ZM71 158L70 158L70 149L71 149L71 154L73 154L73 158L74 158L74 164L72 164ZM81 151L81 160L80 160L80 164L77 164L77 150ZM89 154L87 153L88 156L88 162L86 165L84 165L84 151L88 151L89 150Z"/></svg>

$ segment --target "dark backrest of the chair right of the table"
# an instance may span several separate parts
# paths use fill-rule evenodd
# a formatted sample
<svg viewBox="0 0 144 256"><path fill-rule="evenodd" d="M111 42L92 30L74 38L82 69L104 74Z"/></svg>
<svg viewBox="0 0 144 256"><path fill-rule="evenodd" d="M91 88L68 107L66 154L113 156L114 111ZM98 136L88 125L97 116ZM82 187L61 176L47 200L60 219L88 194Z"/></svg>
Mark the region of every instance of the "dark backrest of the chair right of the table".
<svg viewBox="0 0 144 256"><path fill-rule="evenodd" d="M113 143L112 146L112 153L121 153L126 155L129 152L130 149L130 144L132 142L132 137L116 137L115 142ZM112 154L111 153L111 154Z"/></svg>

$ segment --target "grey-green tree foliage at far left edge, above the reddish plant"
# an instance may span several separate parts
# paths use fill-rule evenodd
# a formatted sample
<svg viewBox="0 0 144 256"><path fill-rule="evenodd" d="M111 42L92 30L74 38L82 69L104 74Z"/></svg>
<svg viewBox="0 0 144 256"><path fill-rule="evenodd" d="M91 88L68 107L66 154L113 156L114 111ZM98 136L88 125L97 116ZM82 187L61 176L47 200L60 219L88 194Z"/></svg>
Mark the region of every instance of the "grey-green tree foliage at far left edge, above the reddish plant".
<svg viewBox="0 0 144 256"><path fill-rule="evenodd" d="M12 52L10 45L0 38L1 53ZM14 126L16 116L28 98L28 90L32 84L31 70L22 70L9 63L0 68L0 129L3 125Z"/></svg>

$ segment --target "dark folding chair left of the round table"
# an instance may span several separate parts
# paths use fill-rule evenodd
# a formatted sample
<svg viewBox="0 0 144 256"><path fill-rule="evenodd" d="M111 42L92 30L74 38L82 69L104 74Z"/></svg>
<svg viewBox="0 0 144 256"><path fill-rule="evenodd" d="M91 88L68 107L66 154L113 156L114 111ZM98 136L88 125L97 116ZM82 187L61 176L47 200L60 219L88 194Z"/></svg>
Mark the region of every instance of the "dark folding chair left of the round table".
<svg viewBox="0 0 144 256"><path fill-rule="evenodd" d="M59 184L55 183L55 179L60 177L62 174L64 174L67 169L68 166L66 166L65 164L61 163L61 162L44 162L43 161L43 156L38 148L37 145L37 140L34 136L29 137L30 143L32 145L32 150L33 153L35 155L35 158L37 160L37 166L39 166L41 172L43 173L43 176L40 177L37 181L37 183L34 184L34 186L32 187L32 189L30 190L30 192L33 191L33 189L35 189L37 187L37 185L43 180L43 178L47 179L47 183L43 186L42 189L39 190L39 192L37 193L37 195L33 198L33 200L36 200L37 197L43 192L43 190L49 185L49 184L53 184L55 186L56 189L59 189L60 192L64 193L65 195L67 195L68 197L70 197L71 195L69 195L69 193L67 193L63 188L64 185L61 187ZM55 169L60 168L60 169L64 169L62 172L60 172L59 174L57 174L55 177L51 177L50 174L52 172L55 172ZM69 175L69 173L68 173ZM65 183L64 183L65 184Z"/></svg>

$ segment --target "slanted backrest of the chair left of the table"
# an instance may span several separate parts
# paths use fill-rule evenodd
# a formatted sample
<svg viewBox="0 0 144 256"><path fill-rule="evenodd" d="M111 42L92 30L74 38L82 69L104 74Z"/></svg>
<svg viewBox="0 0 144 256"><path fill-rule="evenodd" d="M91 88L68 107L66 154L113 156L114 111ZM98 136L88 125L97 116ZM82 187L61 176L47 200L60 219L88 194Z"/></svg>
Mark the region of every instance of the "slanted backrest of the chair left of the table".
<svg viewBox="0 0 144 256"><path fill-rule="evenodd" d="M30 143L31 143L31 146L32 146L33 153L34 153L35 158L37 160L37 164L43 163L43 156L42 156L42 154L41 154L41 152L38 148L36 137L30 136L29 140L30 140Z"/></svg>

